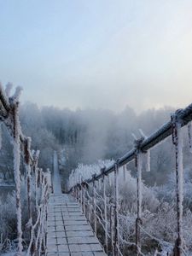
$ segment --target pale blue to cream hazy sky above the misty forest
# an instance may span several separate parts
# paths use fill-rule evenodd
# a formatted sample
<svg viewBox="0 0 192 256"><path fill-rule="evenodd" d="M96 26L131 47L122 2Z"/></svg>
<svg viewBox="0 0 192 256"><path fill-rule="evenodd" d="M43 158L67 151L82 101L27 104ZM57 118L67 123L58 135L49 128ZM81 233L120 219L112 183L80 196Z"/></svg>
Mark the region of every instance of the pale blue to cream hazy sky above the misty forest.
<svg viewBox="0 0 192 256"><path fill-rule="evenodd" d="M0 0L0 80L39 106L184 107L192 1Z"/></svg>

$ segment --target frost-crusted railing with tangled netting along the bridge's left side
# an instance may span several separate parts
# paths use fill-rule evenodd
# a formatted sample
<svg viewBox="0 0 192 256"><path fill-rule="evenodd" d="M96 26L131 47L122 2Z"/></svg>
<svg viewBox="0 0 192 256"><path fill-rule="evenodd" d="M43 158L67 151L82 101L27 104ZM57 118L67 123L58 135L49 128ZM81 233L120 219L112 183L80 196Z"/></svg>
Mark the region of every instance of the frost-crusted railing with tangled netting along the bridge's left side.
<svg viewBox="0 0 192 256"><path fill-rule="evenodd" d="M31 150L31 138L25 137L21 131L19 119L19 103L21 88L17 87L15 94L10 96L12 84L7 84L3 90L0 84L0 121L7 127L11 142L14 147L14 172L15 172L15 195L17 216L18 255L23 252L22 210L21 210L21 173L20 158L23 158L26 170L26 190L29 230L29 247L26 255L41 255L42 247L45 247L45 221L47 202L49 199L50 174L38 168L39 151ZM34 187L34 191L32 188ZM32 192L35 194L35 202L32 201ZM35 211L34 211L35 209ZM32 214L33 212L33 214ZM35 214L34 214L35 212Z"/></svg>

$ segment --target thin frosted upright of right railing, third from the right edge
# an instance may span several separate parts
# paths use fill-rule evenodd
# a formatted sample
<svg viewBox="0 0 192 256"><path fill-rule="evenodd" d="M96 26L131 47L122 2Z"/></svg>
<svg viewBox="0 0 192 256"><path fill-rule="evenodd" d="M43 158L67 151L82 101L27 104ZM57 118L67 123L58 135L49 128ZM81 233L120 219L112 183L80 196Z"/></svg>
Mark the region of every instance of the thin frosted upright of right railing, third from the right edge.
<svg viewBox="0 0 192 256"><path fill-rule="evenodd" d="M114 255L119 255L119 160L114 164Z"/></svg>

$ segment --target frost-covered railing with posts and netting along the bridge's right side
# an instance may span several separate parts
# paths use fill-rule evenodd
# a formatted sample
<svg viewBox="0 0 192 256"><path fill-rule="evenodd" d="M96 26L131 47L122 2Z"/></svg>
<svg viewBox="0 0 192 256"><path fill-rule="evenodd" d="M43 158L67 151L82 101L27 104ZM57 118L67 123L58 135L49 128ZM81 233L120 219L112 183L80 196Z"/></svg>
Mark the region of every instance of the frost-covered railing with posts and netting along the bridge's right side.
<svg viewBox="0 0 192 256"><path fill-rule="evenodd" d="M162 142L166 137L172 135L172 143L175 147L176 158L176 191L177 191L177 240L172 247L172 253L176 256L185 255L184 241L183 241L183 137L181 128L188 125L189 134L189 148L192 148L192 104L184 109L179 109L173 113L170 121L162 125L159 130L155 131L149 137L145 137L141 131L142 137L137 139L135 137L135 146L127 154L119 158L113 165L103 167L100 173L93 174L90 178L84 178L82 173L72 172L68 180L68 190L73 192L80 204L83 207L87 218L92 222L95 233L98 223L102 225L105 231L105 250L108 253L109 247L113 255L123 255L123 246L129 245L135 247L137 255L144 255L141 250L141 230L142 227L142 166L144 157L145 169L150 170L150 148ZM143 157L144 156L144 157ZM121 236L119 229L119 220L123 218L119 214L119 169L123 167L125 172L125 165L135 160L137 167L137 218L136 218L136 239L135 241L125 241ZM121 168L122 169L122 168ZM107 178L113 172L113 201L106 195ZM125 175L125 174L124 174ZM103 183L102 195L98 195L96 190L96 183L101 186ZM109 178L109 183L110 183ZM100 189L99 189L100 190ZM101 190L100 190L101 191ZM98 199L103 201L103 207L99 207ZM93 214L91 214L93 213ZM93 216L93 219L91 219ZM150 234L148 234L150 236ZM153 237L158 241L158 238ZM166 241L158 241L159 243L166 243ZM167 243L168 244L168 243ZM158 252L155 255L161 255Z"/></svg>

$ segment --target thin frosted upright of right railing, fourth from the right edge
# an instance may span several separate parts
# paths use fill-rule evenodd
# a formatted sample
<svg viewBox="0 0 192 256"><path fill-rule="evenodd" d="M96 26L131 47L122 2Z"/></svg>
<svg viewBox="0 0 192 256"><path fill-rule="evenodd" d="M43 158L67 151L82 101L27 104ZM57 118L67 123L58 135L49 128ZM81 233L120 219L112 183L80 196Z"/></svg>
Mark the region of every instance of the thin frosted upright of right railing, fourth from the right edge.
<svg viewBox="0 0 192 256"><path fill-rule="evenodd" d="M105 218L105 246L106 253L108 254L108 207L107 207L107 196L106 196L106 183L107 178L105 175L106 168L103 167L102 172L102 182L103 182L103 199L104 199L104 218Z"/></svg>

